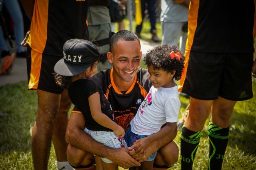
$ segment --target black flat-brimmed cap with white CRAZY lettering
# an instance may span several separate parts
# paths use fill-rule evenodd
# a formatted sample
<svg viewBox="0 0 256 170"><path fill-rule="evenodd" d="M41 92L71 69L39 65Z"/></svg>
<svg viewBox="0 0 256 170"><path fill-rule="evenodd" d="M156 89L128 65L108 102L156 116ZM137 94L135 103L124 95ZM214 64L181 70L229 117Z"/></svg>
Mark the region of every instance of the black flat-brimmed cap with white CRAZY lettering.
<svg viewBox="0 0 256 170"><path fill-rule="evenodd" d="M63 55L54 66L54 71L62 76L78 75L100 59L97 47L84 39L66 41L63 45Z"/></svg>

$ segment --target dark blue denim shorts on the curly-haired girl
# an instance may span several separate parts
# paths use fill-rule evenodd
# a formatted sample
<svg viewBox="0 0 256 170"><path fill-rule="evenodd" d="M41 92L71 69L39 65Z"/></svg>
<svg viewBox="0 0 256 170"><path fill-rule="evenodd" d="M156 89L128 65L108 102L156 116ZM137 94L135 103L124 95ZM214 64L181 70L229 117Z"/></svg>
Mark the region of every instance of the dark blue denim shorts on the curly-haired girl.
<svg viewBox="0 0 256 170"><path fill-rule="evenodd" d="M132 132L131 127L126 131L125 136L124 136L124 140L127 143L127 146L130 147L134 144L135 141L137 141L138 139L147 137L147 135L137 135L135 133ZM154 152L146 161L152 161L156 158L156 152Z"/></svg>

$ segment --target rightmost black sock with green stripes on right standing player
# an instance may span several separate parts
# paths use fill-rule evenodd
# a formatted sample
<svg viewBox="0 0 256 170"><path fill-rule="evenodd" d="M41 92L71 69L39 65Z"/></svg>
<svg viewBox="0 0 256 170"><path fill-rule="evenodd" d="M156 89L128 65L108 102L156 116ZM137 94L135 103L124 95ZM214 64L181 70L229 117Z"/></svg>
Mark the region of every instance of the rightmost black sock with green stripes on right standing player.
<svg viewBox="0 0 256 170"><path fill-rule="evenodd" d="M209 123L208 139L209 147L209 160L208 170L220 170L228 144L228 131L229 127L222 128Z"/></svg>

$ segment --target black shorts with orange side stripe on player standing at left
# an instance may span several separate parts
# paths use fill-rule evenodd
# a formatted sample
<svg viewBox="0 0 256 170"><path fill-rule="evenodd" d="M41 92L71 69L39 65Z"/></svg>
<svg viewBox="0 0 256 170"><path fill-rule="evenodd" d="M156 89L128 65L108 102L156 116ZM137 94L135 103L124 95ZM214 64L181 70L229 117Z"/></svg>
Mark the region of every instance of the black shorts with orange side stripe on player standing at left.
<svg viewBox="0 0 256 170"><path fill-rule="evenodd" d="M38 53L29 46L27 53L28 89L61 94L63 88L55 82L54 65L62 57Z"/></svg>

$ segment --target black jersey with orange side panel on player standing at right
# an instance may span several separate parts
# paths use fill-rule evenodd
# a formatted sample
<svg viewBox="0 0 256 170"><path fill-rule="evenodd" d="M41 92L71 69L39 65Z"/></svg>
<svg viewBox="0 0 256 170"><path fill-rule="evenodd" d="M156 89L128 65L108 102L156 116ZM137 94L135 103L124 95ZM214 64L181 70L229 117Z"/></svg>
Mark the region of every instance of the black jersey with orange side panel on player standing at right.
<svg viewBox="0 0 256 170"><path fill-rule="evenodd" d="M253 53L254 11L254 0L191 0L186 50Z"/></svg>

